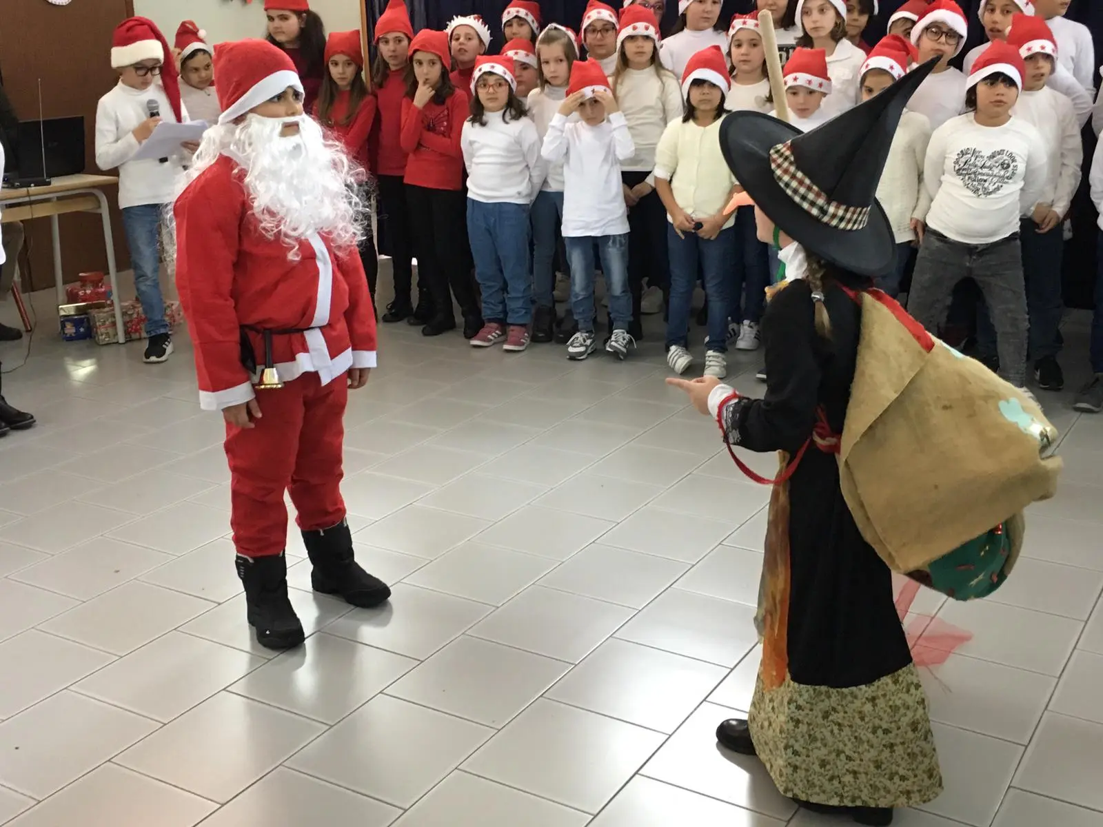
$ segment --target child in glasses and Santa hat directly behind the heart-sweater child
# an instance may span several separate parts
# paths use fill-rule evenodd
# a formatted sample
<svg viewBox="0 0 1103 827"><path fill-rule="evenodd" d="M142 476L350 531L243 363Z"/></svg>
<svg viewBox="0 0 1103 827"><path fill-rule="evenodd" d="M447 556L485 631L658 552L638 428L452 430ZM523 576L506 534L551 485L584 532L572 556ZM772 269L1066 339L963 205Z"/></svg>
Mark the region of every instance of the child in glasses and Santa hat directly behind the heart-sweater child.
<svg viewBox="0 0 1103 827"><path fill-rule="evenodd" d="M927 116L932 130L964 111L965 75L951 66L950 61L961 53L967 33L965 12L954 0L935 0L911 29L919 65L940 58L908 101L909 110Z"/></svg>

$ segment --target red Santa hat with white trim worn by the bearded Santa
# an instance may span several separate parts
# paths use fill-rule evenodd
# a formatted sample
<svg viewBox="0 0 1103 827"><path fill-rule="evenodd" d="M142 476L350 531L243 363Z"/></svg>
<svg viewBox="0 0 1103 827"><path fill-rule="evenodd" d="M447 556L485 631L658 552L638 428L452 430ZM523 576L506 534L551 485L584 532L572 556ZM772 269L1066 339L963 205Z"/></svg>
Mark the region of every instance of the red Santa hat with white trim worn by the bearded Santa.
<svg viewBox="0 0 1103 827"><path fill-rule="evenodd" d="M266 40L217 44L214 74L218 78L218 105L222 107L219 123L232 123L289 86L302 93L299 73L287 52Z"/></svg>

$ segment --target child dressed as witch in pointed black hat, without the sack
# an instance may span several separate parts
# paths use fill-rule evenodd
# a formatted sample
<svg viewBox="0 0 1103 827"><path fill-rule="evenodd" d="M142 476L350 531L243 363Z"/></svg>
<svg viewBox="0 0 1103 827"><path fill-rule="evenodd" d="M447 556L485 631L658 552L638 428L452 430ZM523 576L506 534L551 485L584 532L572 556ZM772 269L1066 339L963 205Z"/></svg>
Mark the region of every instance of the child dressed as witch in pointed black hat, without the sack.
<svg viewBox="0 0 1103 827"><path fill-rule="evenodd" d="M864 825L888 825L893 808L942 791L891 572L855 525L835 457L861 330L843 288L870 289L893 266L875 193L904 105L930 69L805 135L754 111L728 117L720 140L756 205L758 237L777 230L786 248L788 281L762 319L767 391L750 399L714 377L667 379L729 444L781 451L786 468L770 500L754 699L749 719L724 721L717 740L758 755L802 806Z"/></svg>

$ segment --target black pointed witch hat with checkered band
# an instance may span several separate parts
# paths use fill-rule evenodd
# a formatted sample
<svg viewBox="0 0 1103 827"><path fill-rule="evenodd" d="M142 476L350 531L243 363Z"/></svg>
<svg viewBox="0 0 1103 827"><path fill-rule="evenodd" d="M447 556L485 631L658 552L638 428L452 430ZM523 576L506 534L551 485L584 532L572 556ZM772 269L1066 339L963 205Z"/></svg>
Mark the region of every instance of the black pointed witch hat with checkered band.
<svg viewBox="0 0 1103 827"><path fill-rule="evenodd" d="M877 184L904 106L936 63L810 132L761 112L732 112L720 127L724 158L785 235L837 267L880 276L896 261L896 240Z"/></svg>

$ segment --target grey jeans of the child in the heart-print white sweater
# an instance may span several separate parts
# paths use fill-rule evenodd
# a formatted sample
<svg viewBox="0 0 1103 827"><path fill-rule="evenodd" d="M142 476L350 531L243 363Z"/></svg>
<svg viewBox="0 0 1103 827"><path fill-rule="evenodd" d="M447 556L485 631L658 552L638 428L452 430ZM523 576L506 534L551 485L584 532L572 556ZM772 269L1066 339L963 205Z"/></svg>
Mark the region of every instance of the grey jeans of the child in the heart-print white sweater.
<svg viewBox="0 0 1103 827"><path fill-rule="evenodd" d="M1019 234L992 244L962 244L928 228L915 260L908 312L928 330L945 322L954 286L972 278L988 304L996 329L999 375L1026 385L1027 297Z"/></svg>

